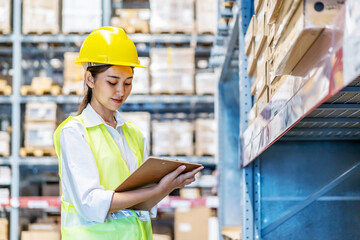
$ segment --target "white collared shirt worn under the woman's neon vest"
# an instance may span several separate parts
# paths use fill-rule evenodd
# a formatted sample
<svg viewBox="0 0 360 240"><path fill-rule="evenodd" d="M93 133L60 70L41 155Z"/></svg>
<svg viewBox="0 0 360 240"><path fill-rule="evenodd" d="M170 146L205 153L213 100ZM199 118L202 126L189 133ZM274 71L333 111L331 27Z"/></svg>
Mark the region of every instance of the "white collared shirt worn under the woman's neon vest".
<svg viewBox="0 0 360 240"><path fill-rule="evenodd" d="M121 126L126 124L116 111L116 128L105 123L90 104L82 113L85 127L104 124L118 145L130 174L137 168L137 160L125 139ZM104 222L110 208L114 191L104 190L100 185L99 172L94 155L85 138L84 126L77 121L68 122L60 135L61 187L64 200L75 206L78 213L88 221ZM143 159L148 157L148 145L143 137Z"/></svg>

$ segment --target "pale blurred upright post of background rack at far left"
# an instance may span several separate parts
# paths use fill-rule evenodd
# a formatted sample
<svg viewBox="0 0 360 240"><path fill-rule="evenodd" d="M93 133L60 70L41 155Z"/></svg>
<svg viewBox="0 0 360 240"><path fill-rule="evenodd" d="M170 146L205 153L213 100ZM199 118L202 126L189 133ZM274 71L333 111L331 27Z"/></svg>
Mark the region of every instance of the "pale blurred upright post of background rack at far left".
<svg viewBox="0 0 360 240"><path fill-rule="evenodd" d="M11 213L10 240L17 240L19 230L18 198L20 192L19 149L20 149L20 86L21 86L21 0L13 1L13 95L12 95L12 133L11 133Z"/></svg>

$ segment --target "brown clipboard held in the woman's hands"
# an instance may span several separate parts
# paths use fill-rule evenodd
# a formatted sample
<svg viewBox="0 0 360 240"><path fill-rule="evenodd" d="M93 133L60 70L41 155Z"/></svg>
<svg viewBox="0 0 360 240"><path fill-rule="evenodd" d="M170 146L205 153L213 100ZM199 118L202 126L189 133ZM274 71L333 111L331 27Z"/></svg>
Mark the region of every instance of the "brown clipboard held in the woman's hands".
<svg viewBox="0 0 360 240"><path fill-rule="evenodd" d="M150 187L157 184L164 176L174 171L181 165L185 165L186 168L182 173L191 172L201 164L189 163L168 158L148 158L143 164L140 165L128 178L126 178L116 189L115 192L131 191L139 188ZM149 211L158 202L160 202L165 195L159 195L155 198L149 199L145 202L139 203L130 207L133 210L147 210Z"/></svg>

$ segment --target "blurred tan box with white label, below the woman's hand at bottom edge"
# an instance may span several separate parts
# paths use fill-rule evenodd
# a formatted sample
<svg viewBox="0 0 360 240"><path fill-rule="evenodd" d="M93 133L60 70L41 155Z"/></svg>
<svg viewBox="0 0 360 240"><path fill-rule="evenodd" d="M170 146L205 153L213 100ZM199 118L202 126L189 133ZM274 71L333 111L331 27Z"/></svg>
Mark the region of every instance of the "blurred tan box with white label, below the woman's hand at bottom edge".
<svg viewBox="0 0 360 240"><path fill-rule="evenodd" d="M175 210L175 239L208 240L208 221L211 210L207 207L177 208Z"/></svg>

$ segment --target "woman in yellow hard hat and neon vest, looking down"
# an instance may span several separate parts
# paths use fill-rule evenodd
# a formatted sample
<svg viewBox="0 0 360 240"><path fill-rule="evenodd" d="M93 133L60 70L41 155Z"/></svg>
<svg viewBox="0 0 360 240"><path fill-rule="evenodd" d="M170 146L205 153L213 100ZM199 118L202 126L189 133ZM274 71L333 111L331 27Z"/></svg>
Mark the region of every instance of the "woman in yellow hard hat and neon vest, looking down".
<svg viewBox="0 0 360 240"><path fill-rule="evenodd" d="M79 115L54 133L62 239L152 239L149 212L128 208L190 184L202 167L181 174L181 166L153 187L115 193L147 158L141 132L117 111L131 92L133 69L143 66L134 43L114 27L93 31L76 63L86 69L87 93Z"/></svg>

